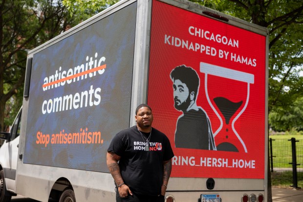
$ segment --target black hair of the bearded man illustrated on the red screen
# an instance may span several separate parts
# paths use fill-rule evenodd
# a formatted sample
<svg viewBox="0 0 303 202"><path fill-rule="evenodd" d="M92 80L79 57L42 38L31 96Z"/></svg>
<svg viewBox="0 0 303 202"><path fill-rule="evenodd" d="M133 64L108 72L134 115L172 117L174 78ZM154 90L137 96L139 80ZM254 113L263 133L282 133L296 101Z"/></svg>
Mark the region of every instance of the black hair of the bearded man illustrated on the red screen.
<svg viewBox="0 0 303 202"><path fill-rule="evenodd" d="M195 92L195 100L200 85L200 79L195 69L186 67L185 65L175 67L171 72L171 79L172 81L179 79L182 83L186 84L189 93L192 91Z"/></svg>

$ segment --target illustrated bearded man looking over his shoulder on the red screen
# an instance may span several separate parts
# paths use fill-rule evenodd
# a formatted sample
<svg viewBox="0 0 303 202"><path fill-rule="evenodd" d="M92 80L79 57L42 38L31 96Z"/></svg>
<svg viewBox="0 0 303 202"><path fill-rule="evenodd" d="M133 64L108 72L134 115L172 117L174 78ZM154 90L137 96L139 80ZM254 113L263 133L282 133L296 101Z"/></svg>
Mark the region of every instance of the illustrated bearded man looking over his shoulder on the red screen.
<svg viewBox="0 0 303 202"><path fill-rule="evenodd" d="M175 146L180 148L216 150L211 122L196 104L200 79L195 69L185 65L171 72L174 108L182 111L175 130Z"/></svg>

